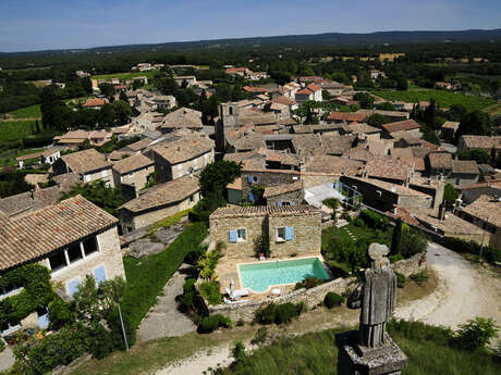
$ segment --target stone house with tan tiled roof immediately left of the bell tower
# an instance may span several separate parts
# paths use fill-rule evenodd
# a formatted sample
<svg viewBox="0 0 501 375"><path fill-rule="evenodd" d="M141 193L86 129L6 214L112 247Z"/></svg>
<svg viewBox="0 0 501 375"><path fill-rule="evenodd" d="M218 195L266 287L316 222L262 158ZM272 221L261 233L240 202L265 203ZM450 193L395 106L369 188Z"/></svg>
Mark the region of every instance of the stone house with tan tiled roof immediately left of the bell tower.
<svg viewBox="0 0 501 375"><path fill-rule="evenodd" d="M186 136L161 143L148 151L155 162L159 182L164 183L201 171L215 161L213 140L200 136Z"/></svg>

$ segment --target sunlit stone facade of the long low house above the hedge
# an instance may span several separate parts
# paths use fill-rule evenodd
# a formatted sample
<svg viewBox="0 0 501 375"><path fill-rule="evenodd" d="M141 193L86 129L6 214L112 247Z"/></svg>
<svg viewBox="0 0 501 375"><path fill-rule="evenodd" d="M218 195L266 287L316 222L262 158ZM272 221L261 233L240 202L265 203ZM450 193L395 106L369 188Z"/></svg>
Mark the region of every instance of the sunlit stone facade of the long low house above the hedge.
<svg viewBox="0 0 501 375"><path fill-rule="evenodd" d="M193 196L183 201L167 205L158 207L155 210L145 210L143 212L132 212L126 209L120 209L120 222L124 233L129 233L138 228L147 227L166 217L172 216L178 212L192 209L200 200L200 193L195 192Z"/></svg>

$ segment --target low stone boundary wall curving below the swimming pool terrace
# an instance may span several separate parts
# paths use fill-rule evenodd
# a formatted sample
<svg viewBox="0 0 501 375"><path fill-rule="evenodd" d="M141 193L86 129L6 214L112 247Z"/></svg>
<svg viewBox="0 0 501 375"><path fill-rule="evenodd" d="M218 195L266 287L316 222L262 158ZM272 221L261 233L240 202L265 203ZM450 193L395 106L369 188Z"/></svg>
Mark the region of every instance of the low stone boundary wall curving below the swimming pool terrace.
<svg viewBox="0 0 501 375"><path fill-rule="evenodd" d="M418 253L410 259L395 262L392 264L392 267L395 272L399 272L405 277L408 277L410 275L426 268L426 253ZM267 297L259 301L216 305L207 304L207 301L204 301L207 304L209 314L222 314L224 316L229 316L233 322L237 322L240 320L244 322L252 322L256 311L269 303L280 304L286 302L305 302L308 309L311 309L318 303L322 302L329 291L333 291L338 295L343 295L349 289L355 287L356 277L337 278L335 280L321 284L315 288L302 288L284 296Z"/></svg>

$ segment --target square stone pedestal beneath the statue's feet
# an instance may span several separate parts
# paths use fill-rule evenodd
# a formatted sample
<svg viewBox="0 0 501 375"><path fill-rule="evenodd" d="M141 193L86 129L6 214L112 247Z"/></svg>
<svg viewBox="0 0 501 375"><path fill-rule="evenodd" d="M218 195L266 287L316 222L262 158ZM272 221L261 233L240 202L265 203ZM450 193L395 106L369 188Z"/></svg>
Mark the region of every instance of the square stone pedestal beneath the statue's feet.
<svg viewBox="0 0 501 375"><path fill-rule="evenodd" d="M407 364L407 357L388 334L379 348L361 347L357 342L358 330L335 335L338 375L400 375Z"/></svg>

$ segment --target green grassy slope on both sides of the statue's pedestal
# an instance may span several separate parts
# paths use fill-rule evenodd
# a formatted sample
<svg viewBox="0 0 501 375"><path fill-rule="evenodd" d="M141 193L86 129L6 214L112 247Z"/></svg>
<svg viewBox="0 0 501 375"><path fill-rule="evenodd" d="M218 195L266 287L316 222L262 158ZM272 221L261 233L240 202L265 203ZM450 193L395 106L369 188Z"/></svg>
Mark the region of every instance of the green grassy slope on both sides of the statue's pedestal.
<svg viewBox="0 0 501 375"><path fill-rule="evenodd" d="M392 338L408 357L408 364L402 375L499 374L499 363L496 363L493 355L454 349L442 342L440 337L428 334L427 328L419 328L413 323L405 325L423 334L405 332L405 328L391 329ZM338 348L334 339L338 332L328 329L280 339L269 347L256 350L234 368L227 368L220 374L335 375Z"/></svg>

